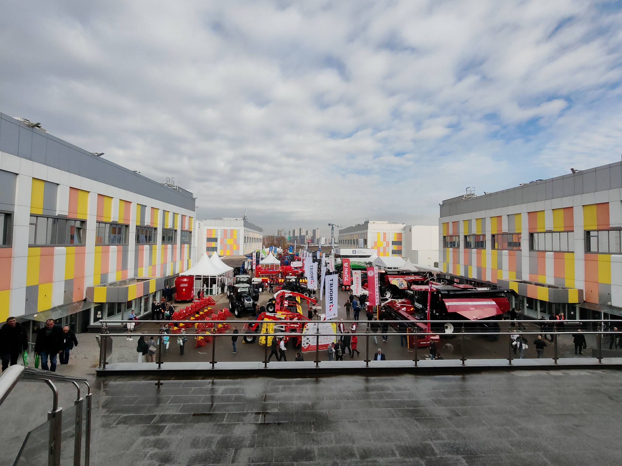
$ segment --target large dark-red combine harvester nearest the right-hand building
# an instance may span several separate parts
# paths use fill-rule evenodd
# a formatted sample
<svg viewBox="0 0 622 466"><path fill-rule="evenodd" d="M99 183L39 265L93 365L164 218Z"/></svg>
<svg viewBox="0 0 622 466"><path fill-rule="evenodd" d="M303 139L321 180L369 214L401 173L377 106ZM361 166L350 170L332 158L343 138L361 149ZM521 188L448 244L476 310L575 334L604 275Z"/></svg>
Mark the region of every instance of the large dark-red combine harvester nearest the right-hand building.
<svg viewBox="0 0 622 466"><path fill-rule="evenodd" d="M516 296L513 290L491 290L471 285L447 285L430 281L429 285L413 285L415 317L432 322L432 332L452 334L462 327L473 331L498 331L499 319L507 313L510 303L507 295ZM428 317L429 316L429 317ZM464 323L447 322L464 321Z"/></svg>

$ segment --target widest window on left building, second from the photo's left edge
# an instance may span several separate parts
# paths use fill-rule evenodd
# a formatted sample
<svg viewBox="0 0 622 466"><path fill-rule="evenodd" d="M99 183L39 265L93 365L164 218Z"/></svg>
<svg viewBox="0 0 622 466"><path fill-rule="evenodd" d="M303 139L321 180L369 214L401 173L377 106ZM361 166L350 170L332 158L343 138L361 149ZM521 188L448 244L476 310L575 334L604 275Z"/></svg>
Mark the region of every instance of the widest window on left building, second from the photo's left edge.
<svg viewBox="0 0 622 466"><path fill-rule="evenodd" d="M72 219L30 216L28 244L31 246L80 246L84 244L86 222Z"/></svg>

